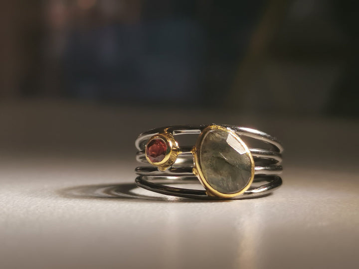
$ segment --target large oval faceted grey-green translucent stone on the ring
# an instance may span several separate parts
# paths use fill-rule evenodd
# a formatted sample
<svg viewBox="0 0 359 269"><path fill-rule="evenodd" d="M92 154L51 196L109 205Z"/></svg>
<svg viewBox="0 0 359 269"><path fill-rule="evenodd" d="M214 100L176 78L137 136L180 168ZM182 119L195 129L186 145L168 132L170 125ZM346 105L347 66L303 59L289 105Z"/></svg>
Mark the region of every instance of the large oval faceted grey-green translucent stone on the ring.
<svg viewBox="0 0 359 269"><path fill-rule="evenodd" d="M213 189L226 194L236 193L251 179L249 154L236 135L214 129L202 138L199 165Z"/></svg>

